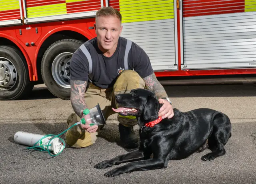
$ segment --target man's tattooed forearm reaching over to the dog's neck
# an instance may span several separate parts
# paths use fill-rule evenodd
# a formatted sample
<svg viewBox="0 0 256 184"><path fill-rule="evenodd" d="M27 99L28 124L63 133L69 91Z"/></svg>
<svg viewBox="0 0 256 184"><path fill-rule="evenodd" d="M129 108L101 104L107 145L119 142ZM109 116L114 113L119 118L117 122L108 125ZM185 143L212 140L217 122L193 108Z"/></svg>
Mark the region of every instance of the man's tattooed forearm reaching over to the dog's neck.
<svg viewBox="0 0 256 184"><path fill-rule="evenodd" d="M146 84L146 88L155 92L155 94L158 98L163 98L163 97L168 98L168 96L164 90L164 87L157 80L156 75L154 73L143 78L143 80Z"/></svg>

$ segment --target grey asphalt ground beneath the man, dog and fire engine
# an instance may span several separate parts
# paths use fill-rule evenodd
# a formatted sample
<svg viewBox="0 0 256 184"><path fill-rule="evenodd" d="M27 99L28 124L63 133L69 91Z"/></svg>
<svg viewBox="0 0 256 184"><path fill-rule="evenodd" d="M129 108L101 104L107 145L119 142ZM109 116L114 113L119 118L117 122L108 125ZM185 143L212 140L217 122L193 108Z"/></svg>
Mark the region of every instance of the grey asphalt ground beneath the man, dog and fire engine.
<svg viewBox="0 0 256 184"><path fill-rule="evenodd" d="M181 111L213 108L226 113L232 122L232 137L226 155L212 162L201 157L209 150L187 159L169 161L166 169L136 171L107 178L95 164L127 153L118 144L116 115L98 135L96 143L84 149L66 147L56 156L26 150L14 142L17 131L58 135L68 128L72 113L69 100L55 98L45 87L36 86L26 100L0 101L0 183L256 183L256 85L168 86L173 107ZM135 127L138 135L138 126ZM62 138L64 136L61 136ZM123 165L123 164L121 164Z"/></svg>

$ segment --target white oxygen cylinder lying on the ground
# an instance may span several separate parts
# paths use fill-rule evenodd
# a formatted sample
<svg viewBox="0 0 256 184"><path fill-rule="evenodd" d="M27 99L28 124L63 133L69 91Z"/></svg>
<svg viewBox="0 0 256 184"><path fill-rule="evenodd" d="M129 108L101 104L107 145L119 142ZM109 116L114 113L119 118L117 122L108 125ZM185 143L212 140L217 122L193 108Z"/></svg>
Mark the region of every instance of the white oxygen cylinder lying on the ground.
<svg viewBox="0 0 256 184"><path fill-rule="evenodd" d="M61 149L64 149L62 141L56 137L54 140L52 140L53 136L48 136L42 139L40 142L38 142L36 145L34 145L37 141L39 141L42 137L45 135L35 134L35 133L28 133L24 131L18 131L14 135L14 141L21 145L26 145L30 147L34 146L40 146L40 145L46 145L44 149L47 148L47 145L49 141L51 141L51 146L49 146L49 151L53 151L54 154L58 154Z"/></svg>

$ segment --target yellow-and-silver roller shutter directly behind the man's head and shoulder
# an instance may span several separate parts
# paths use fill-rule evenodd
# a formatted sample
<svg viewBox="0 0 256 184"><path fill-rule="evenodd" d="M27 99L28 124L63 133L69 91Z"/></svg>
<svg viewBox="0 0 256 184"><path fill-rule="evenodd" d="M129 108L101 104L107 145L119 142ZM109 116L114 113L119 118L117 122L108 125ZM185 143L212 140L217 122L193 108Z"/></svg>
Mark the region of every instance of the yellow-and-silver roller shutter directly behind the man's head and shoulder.
<svg viewBox="0 0 256 184"><path fill-rule="evenodd" d="M122 14L122 37L148 54L154 70L176 70L176 4L173 0L110 0Z"/></svg>

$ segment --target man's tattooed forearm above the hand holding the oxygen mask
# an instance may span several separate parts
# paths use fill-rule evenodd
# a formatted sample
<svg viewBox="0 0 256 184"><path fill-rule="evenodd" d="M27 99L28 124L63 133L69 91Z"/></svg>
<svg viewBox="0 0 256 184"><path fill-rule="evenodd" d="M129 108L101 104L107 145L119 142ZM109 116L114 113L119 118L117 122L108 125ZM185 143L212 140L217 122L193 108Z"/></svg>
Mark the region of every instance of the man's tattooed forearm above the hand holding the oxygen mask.
<svg viewBox="0 0 256 184"><path fill-rule="evenodd" d="M86 90L86 81L81 80L71 80L71 94L70 100L72 104L72 108L74 112L81 118L82 112L85 108L87 108L86 103L84 101L84 93Z"/></svg>

